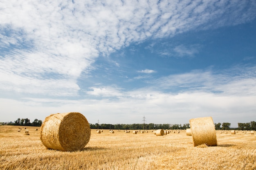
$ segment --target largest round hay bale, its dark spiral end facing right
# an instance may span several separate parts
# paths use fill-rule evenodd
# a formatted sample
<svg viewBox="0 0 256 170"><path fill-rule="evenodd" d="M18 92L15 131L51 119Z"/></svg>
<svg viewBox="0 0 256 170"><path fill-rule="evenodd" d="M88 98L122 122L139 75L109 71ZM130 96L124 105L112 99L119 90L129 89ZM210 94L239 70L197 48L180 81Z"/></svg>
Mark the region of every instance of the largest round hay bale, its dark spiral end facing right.
<svg viewBox="0 0 256 170"><path fill-rule="evenodd" d="M87 119L81 113L57 113L45 118L40 139L49 149L74 151L88 144L91 129Z"/></svg>

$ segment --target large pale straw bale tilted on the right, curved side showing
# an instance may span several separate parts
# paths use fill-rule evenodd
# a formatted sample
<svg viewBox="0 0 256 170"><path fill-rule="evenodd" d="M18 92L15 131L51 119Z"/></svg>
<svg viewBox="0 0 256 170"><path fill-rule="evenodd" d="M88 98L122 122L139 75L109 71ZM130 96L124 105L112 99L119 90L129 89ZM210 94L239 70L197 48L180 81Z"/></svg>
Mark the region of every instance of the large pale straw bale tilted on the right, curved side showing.
<svg viewBox="0 0 256 170"><path fill-rule="evenodd" d="M190 128L194 146L206 144L217 146L216 130L212 117L190 119Z"/></svg>

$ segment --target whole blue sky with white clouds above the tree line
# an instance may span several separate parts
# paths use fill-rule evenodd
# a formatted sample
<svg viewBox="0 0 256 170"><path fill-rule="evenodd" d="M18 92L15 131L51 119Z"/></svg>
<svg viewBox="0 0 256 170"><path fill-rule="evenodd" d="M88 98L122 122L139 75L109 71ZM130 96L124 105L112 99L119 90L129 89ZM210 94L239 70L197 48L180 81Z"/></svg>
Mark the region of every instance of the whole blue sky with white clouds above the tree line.
<svg viewBox="0 0 256 170"><path fill-rule="evenodd" d="M254 0L0 2L0 121L256 121Z"/></svg>

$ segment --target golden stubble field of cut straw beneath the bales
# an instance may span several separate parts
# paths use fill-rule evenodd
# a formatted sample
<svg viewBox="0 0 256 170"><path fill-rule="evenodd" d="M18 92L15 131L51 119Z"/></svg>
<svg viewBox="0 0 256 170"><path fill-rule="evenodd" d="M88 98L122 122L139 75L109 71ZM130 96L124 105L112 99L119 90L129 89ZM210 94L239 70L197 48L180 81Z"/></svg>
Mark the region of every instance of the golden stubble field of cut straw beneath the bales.
<svg viewBox="0 0 256 170"><path fill-rule="evenodd" d="M40 128L26 127L29 135L24 128L0 126L1 170L256 170L256 135L248 132L216 131L218 146L194 147L185 130L156 136L92 129L83 150L63 152L43 146Z"/></svg>

